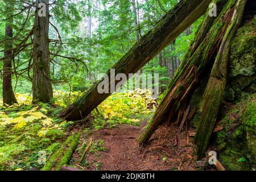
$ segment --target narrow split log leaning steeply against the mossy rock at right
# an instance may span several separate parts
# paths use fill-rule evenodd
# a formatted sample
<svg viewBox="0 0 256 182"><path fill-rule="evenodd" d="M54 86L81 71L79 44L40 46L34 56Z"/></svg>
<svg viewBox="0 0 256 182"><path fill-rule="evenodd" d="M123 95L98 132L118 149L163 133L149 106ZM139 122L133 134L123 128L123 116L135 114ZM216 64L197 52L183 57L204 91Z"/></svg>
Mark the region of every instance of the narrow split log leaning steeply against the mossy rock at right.
<svg viewBox="0 0 256 182"><path fill-rule="evenodd" d="M226 86L230 44L238 26L240 26L245 4L246 0L238 0L236 3L230 25L225 32L207 88L205 89L203 111L195 137L197 159L203 158L205 151L207 151L210 135L216 122L218 109Z"/></svg>

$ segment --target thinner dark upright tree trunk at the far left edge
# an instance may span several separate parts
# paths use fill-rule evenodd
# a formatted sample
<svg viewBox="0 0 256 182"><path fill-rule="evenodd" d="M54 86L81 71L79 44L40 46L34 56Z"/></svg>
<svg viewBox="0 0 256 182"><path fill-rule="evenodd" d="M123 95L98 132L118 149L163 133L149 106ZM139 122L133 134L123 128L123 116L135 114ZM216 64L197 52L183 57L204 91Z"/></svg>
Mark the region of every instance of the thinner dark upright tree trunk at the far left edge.
<svg viewBox="0 0 256 182"><path fill-rule="evenodd" d="M11 85L11 67L12 67L12 48L13 48L13 18L9 18L5 26L5 36L7 40L5 41L5 52L3 60L3 104L13 105L18 103L15 94L13 92L13 86Z"/></svg>

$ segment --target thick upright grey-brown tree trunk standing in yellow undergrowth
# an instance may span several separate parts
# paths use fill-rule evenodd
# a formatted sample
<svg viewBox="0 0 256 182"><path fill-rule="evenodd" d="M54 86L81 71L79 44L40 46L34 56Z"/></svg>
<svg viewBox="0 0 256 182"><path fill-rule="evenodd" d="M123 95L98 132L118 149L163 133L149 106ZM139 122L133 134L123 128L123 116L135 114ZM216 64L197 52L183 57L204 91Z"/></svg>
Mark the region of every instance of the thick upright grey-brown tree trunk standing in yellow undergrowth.
<svg viewBox="0 0 256 182"><path fill-rule="evenodd" d="M33 103L50 102L53 97L49 59L49 0L36 0L36 6L45 3L46 16L35 12L33 53Z"/></svg>

